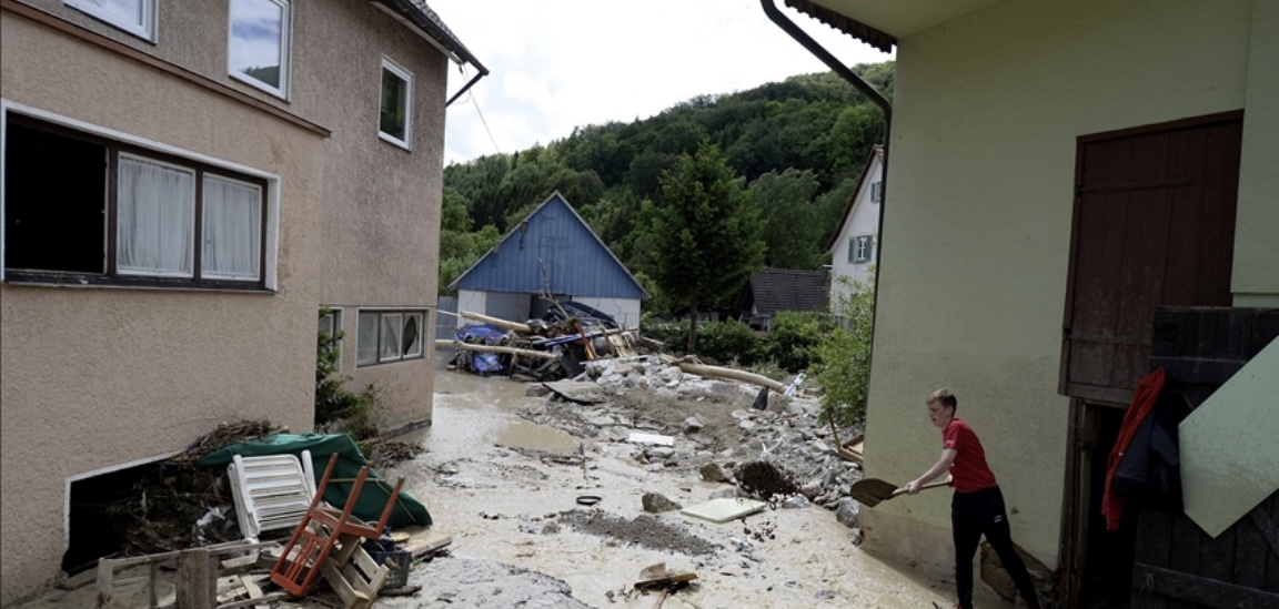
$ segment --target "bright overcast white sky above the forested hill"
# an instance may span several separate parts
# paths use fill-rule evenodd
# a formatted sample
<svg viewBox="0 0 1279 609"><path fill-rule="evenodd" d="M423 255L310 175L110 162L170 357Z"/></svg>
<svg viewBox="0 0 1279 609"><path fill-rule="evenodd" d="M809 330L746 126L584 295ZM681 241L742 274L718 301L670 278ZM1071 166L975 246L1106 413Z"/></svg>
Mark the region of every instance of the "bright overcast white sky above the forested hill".
<svg viewBox="0 0 1279 609"><path fill-rule="evenodd" d="M891 56L778 5L845 64ZM431 0L489 68L449 106L445 165L629 123L706 93L825 71L758 0ZM449 96L475 74L450 64ZM476 109L478 105L478 111ZM483 115L489 133L480 120Z"/></svg>

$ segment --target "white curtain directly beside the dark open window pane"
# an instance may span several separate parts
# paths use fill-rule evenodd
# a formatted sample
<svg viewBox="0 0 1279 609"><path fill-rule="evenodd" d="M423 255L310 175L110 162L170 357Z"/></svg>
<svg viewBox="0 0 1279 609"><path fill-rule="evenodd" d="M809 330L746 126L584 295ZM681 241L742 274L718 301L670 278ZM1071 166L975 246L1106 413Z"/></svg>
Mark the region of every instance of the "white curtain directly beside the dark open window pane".
<svg viewBox="0 0 1279 609"><path fill-rule="evenodd" d="M194 171L122 154L116 194L119 272L191 277Z"/></svg>

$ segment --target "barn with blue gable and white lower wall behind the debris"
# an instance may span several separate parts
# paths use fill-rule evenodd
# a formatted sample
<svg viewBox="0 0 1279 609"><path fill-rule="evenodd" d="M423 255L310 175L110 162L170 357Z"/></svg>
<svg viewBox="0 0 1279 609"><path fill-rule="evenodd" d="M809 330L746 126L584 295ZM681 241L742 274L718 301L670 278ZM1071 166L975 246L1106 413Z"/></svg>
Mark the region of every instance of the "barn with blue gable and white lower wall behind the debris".
<svg viewBox="0 0 1279 609"><path fill-rule="evenodd" d="M551 303L541 296L549 295L608 313L628 328L640 324L640 303L650 297L559 192L449 290L458 292L458 310L522 322L545 314Z"/></svg>

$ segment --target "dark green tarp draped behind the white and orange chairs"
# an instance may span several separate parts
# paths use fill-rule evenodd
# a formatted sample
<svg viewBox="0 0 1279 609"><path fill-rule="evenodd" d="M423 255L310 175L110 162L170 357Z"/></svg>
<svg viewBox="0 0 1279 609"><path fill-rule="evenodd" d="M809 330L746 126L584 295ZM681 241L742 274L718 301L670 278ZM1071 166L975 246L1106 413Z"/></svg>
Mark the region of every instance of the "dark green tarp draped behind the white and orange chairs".
<svg viewBox="0 0 1279 609"><path fill-rule="evenodd" d="M311 461L316 472L316 486L320 485L324 470L329 466L329 456L338 455L338 462L333 466L333 475L329 479L329 488L325 490L324 499L333 506L345 506L356 476L359 475L359 469L368 465L365 455L359 452L359 447L345 434L322 435L307 433L267 435L260 440L240 442L211 452L200 461L196 461L196 466L225 467L235 455L243 457L294 455L302 458L302 451L311 451ZM394 484L382 480L377 472L370 471L352 515L363 521L377 522L382 517L382 509L386 508L386 500L390 499L391 490L394 489ZM431 515L427 513L425 506L400 492L395 509L391 511L390 520L386 523L394 529L431 526Z"/></svg>

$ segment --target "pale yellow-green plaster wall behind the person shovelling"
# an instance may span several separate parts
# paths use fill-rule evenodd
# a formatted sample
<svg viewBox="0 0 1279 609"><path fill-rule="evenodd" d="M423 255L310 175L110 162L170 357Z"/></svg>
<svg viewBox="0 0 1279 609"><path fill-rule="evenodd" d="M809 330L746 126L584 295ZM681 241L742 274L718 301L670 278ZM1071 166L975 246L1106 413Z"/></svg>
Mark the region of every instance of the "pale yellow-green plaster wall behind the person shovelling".
<svg viewBox="0 0 1279 609"><path fill-rule="evenodd" d="M1004 489L1014 540L1056 564L1076 138L1243 107L1251 18L1248 3L1000 3L900 41L867 476L906 483L938 460L923 398L950 388ZM1274 132L1255 128L1244 137L1271 151ZM1241 222L1273 217L1259 206L1241 199ZM1238 239L1248 255L1264 248L1248 231ZM1279 292L1237 267L1236 285L1252 282ZM938 534L949 499L863 511L867 548L949 572Z"/></svg>

